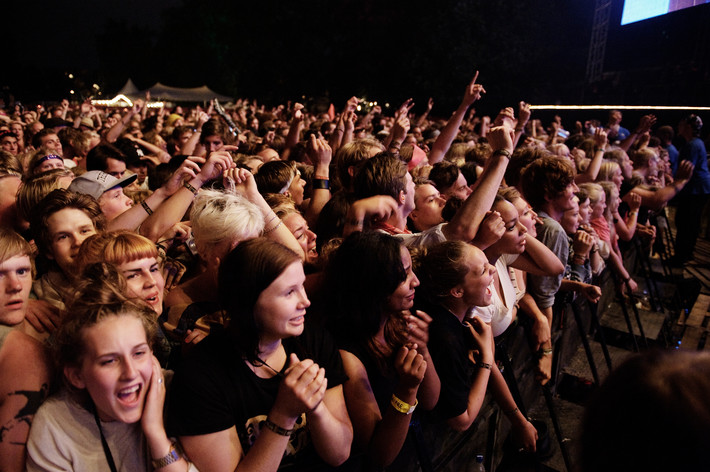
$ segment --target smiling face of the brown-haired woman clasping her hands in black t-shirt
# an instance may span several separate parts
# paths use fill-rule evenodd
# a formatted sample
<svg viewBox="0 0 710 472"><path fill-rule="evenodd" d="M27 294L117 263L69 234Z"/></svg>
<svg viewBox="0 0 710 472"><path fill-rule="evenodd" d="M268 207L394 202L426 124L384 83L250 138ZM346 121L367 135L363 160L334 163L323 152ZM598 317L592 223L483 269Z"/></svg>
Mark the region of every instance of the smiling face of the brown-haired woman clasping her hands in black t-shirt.
<svg viewBox="0 0 710 472"><path fill-rule="evenodd" d="M303 332L306 308L311 305L303 283L306 276L300 261L293 262L259 295L254 317L260 341L269 343Z"/></svg>

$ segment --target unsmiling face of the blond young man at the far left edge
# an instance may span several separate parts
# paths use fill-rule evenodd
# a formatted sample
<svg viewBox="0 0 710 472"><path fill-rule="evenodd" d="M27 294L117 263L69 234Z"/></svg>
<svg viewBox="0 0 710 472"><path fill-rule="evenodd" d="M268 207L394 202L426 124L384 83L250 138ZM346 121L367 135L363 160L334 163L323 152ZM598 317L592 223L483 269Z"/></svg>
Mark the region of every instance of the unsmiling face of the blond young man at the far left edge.
<svg viewBox="0 0 710 472"><path fill-rule="evenodd" d="M15 326L22 323L31 288L29 256L14 256L0 262L0 324Z"/></svg>

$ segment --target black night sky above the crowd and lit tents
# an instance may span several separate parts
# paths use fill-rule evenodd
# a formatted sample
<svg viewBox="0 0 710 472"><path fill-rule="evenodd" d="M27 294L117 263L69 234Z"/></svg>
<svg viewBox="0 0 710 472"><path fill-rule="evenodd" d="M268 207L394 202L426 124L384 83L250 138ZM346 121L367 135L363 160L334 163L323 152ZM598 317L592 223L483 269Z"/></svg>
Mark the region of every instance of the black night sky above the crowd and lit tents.
<svg viewBox="0 0 710 472"><path fill-rule="evenodd" d="M57 100L130 77L209 85L277 103L357 94L455 107L476 69L479 106L710 102L710 5L621 27L615 0L602 82L584 72L593 0L123 0L4 7L7 97ZM12 46L10 46L12 44ZM9 59L9 60L8 60ZM67 73L74 74L69 80ZM486 108L490 108L487 110ZM436 110L435 110L436 111ZM448 114L449 111L446 112Z"/></svg>

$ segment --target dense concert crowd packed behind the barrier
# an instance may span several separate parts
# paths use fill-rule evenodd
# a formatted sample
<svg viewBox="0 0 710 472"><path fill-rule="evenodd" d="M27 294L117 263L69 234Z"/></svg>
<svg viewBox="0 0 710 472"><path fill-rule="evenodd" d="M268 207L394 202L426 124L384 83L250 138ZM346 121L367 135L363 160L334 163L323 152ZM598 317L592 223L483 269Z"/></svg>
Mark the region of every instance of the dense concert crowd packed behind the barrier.
<svg viewBox="0 0 710 472"><path fill-rule="evenodd" d="M479 117L477 77L448 120L3 110L0 469L380 470L413 414L463 431L486 393L535 452L496 340L525 325L550 381L553 307L597 303L605 270L636 290L625 249L655 250L669 202L688 261L707 153L696 115L679 139Z"/></svg>

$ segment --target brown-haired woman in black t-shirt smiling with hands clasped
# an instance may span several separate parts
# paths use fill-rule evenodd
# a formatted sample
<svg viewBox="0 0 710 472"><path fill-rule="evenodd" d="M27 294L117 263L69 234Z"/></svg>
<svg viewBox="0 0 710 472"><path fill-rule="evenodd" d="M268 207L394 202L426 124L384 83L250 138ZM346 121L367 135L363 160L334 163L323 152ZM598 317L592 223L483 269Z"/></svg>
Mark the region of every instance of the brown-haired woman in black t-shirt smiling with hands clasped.
<svg viewBox="0 0 710 472"><path fill-rule="evenodd" d="M171 426L200 470L311 470L348 458L342 366L305 326L304 280L301 258L263 238L220 265L229 326L197 346L171 393Z"/></svg>

